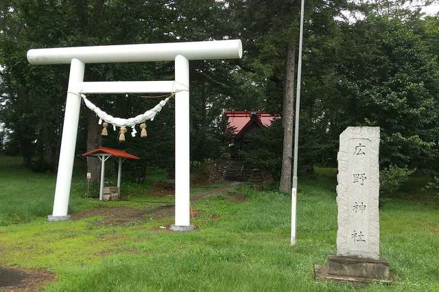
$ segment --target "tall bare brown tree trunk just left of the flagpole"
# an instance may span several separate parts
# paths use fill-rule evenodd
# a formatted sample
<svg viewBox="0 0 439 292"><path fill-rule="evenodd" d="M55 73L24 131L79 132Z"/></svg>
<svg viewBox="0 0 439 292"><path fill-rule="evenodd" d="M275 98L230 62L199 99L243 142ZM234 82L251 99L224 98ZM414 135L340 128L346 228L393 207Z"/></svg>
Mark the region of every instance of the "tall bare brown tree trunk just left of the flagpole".
<svg viewBox="0 0 439 292"><path fill-rule="evenodd" d="M283 93L283 151L282 171L279 191L291 193L292 157L293 157L293 116L294 116L294 69L296 66L296 46L289 42L287 45L287 60L285 61L285 89Z"/></svg>

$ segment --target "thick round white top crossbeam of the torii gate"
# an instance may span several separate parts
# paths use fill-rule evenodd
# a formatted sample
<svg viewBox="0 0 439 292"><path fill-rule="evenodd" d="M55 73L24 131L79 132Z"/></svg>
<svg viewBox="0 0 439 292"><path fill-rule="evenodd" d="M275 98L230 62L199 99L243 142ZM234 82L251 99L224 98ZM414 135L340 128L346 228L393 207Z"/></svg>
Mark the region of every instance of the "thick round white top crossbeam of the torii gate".
<svg viewBox="0 0 439 292"><path fill-rule="evenodd" d="M30 49L27 60L32 65L83 63L174 61L181 55L188 60L237 59L242 56L241 40L206 42L168 42L161 44L112 45Z"/></svg>

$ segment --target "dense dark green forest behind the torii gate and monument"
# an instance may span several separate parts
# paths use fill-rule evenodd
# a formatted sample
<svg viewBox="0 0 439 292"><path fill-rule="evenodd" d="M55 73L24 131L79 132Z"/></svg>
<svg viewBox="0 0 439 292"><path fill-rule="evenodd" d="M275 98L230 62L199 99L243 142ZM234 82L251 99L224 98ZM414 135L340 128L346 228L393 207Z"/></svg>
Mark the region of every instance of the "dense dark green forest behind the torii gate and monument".
<svg viewBox="0 0 439 292"><path fill-rule="evenodd" d="M381 128L383 189L415 171L439 171L439 16L435 1L309 0L305 6L299 133L301 171L335 167L348 126ZM218 160L230 136L223 110L280 114L244 153L290 188L300 1L295 0L4 0L0 3L0 151L23 156L34 171L56 171L69 66L30 66L31 48L223 40L243 42L241 60L192 61L191 161ZM85 80L171 80L171 62L90 64ZM88 95L116 117L132 117L158 99ZM285 130L286 129L286 130ZM78 156L104 145L140 156L127 177L159 167L173 175L174 102L147 123L148 138L110 130L82 107ZM284 162L287 162L285 165ZM88 170L99 171L96 160ZM98 178L98 175L92 175ZM437 178L436 178L437 180Z"/></svg>

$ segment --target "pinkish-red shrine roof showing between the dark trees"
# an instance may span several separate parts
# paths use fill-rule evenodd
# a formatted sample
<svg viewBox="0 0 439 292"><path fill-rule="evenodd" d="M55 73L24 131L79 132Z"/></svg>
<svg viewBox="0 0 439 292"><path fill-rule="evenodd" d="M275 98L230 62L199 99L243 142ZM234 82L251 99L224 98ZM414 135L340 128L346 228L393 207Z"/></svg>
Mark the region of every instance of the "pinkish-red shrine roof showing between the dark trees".
<svg viewBox="0 0 439 292"><path fill-rule="evenodd" d="M228 127L233 128L233 134L235 135L241 134L241 132L246 129L247 125L252 120L252 116L256 117L258 123L265 127L270 127L275 119L280 118L277 114L268 114L263 111L237 112L235 110L228 110L225 111L224 114L228 117Z"/></svg>

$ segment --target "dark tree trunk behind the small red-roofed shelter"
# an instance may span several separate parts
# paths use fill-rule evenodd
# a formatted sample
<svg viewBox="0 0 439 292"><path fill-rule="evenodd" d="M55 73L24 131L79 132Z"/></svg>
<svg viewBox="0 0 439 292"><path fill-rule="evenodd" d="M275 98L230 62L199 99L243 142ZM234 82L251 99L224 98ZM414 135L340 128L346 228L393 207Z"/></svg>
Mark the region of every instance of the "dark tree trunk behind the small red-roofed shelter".
<svg viewBox="0 0 439 292"><path fill-rule="evenodd" d="M100 127L95 112L88 110L87 118L87 151L93 150L102 144ZM87 156L87 171L91 173L91 182L97 183L100 178L101 162L95 157Z"/></svg>

